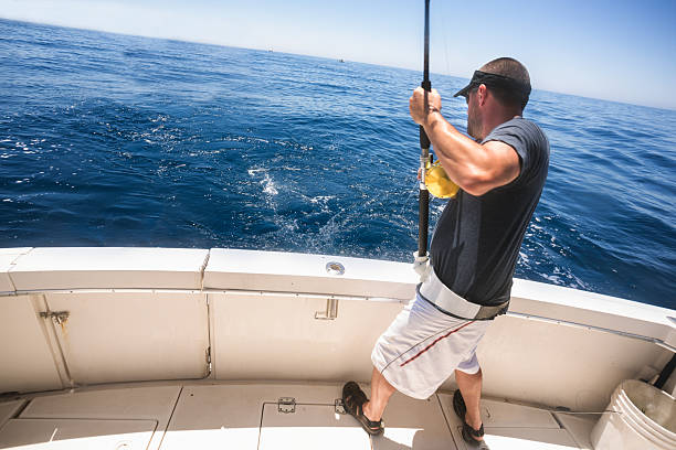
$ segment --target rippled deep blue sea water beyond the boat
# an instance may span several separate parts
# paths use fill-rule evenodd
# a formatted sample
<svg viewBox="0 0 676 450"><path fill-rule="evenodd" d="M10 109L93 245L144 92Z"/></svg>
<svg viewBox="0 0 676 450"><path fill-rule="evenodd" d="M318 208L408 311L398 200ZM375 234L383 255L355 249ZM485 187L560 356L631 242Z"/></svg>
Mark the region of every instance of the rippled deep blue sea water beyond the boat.
<svg viewBox="0 0 676 450"><path fill-rule="evenodd" d="M418 72L4 20L0 66L0 247L411 260ZM464 131L465 81L432 83ZM676 308L676 111L535 90L525 116L552 153L517 277Z"/></svg>

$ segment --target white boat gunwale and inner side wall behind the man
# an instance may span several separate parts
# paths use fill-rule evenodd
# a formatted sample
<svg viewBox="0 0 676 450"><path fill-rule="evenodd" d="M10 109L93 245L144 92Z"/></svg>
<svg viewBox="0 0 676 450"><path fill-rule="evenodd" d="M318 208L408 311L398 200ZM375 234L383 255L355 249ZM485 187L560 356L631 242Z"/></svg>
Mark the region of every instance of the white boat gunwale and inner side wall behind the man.
<svg viewBox="0 0 676 450"><path fill-rule="evenodd" d="M46 354L50 353L49 349L52 349L52 357L61 360L55 368L60 374L60 384L38 383L29 386L30 376L27 378L21 368L17 368L13 374L0 375L0 392L28 393L67 388L71 384L188 379L190 377L184 375L179 377L171 371L166 372L167 376L160 377L157 372L150 371L151 367L147 367L148 374L152 375L148 377L141 376L142 371L136 376L129 374L125 378L124 374L118 374L117 377L109 379L103 378L101 374L92 376L86 371L83 372L83 367L96 372L96 364L106 363L97 352L109 352L112 357L117 355L117 357L130 357L131 361L137 361L135 357L138 356L141 361L139 364L142 364L142 360L140 355L129 354L135 352L135 347L126 343L124 336L119 342L97 341L92 343L92 349L80 345L78 339L84 332L81 326L93 325L83 324L82 321L78 323L77 315L99 302L106 308L129 308L128 311L117 312L119 323L126 323L125 317L133 318L135 314L135 304L155 302L161 309L178 308L175 312L162 312L169 314L167 320L183 320L178 311L187 308L189 299L192 299L193 303L197 302L194 308L198 310L193 311L192 324L182 324L188 329L183 332L192 336L190 339L202 336L199 338L202 344L193 345L193 350L190 351L192 354L179 352L176 355L177 361L171 363L180 365L181 358L192 361L196 374L192 379L199 379L203 374L208 374L208 379L216 381L337 382L349 375L367 382L370 373L368 354L372 342L387 328L403 303L412 297L418 282L411 265L405 262L256 250L190 250L188 254L193 257L190 264L186 264L175 260L177 255L184 254L182 249L67 247L0 249L0 289L3 290L0 293L0 309L10 308L10 304L14 304L11 302L19 302L13 308L24 308L23 314L28 314L25 318L29 320L30 311L33 311L34 315L50 309L59 311L52 303L75 308L74 315L68 319L66 325L70 334L64 334L64 330L61 330L56 323L47 325L44 320L40 322L38 319L31 319L35 330L41 328L43 330L35 331L35 335L42 333L45 336L43 340L47 342ZM156 260L159 262L155 264ZM326 271L327 261L332 260L340 261L345 266L345 276ZM136 271L135 275L147 277L147 286L130 286L140 278L127 277L130 271L129 266ZM176 272L184 275L186 271L190 274L181 278L184 285L177 287ZM3 278L12 283L10 289L6 288L8 285L2 285ZM104 281L110 285L105 286ZM61 286L54 287L52 282ZM67 288L63 288L64 285L67 285ZM15 289L24 286L30 286L31 289ZM315 313L323 310L324 302L331 299L345 300L340 302L338 319L317 321ZM99 317L96 315L97 311L87 311L94 320L103 320L96 319ZM145 311L150 315L150 311L154 310ZM635 377L638 374L649 378L670 358L676 343L675 325L669 319L674 315L675 311L665 308L515 279L509 314L496 320L492 326L494 332L489 333L486 343L479 346L479 357L486 364L486 395L550 407L563 406L580 411L599 410L606 403L616 379ZM297 352L291 354L287 360L295 361L299 366L273 368L275 364L285 363L275 360L274 355L270 361L263 361L270 355L261 354L256 357L250 354L252 352L244 352L245 346L251 346L254 352L264 352L267 341L263 338L255 341L258 339L255 338L255 342L252 342L245 326L234 319L231 320L235 317L241 317L241 321L244 321L246 326L253 326L252 334L267 333L270 330L274 333L289 332L295 340L289 341L289 344L294 342ZM112 320L115 322L115 317ZM281 321L288 321L288 324L281 324ZM133 323L131 333L136 333L137 336L142 335L144 332L148 332L144 326L150 326L155 338L159 340L161 351L163 346L173 343L169 332L161 332L161 328L166 326L162 323L165 322ZM102 325L106 326L105 323ZM291 329L284 329L285 326ZM357 339L352 336L355 326L372 326L373 331L363 332ZM349 338L346 340L346 336ZM273 338L274 345L282 345L279 342L288 336L277 334ZM17 335L6 338L7 342L15 339ZM68 339L72 340L70 344L75 345L70 350L74 353L70 354L66 342ZM519 350L518 345L527 346ZM62 351L59 350L60 346L63 347ZM276 351L282 351L281 349L283 346ZM138 350L141 351L149 352L150 349ZM517 353L518 351L521 353ZM204 352L208 352L207 356ZM574 355L580 361L571 361L572 367L566 367L568 372L561 371L557 374L554 368L561 364L561 357L557 352L571 358ZM2 350L0 346L0 355L3 354L7 356L6 361L10 363L25 357L12 353L10 349ZM353 356L355 361L350 361L347 365L336 363L336 357L345 357L348 354ZM45 355L41 357L46 364ZM501 357L514 360L514 364L505 365L500 362ZM166 364L166 368L171 368L170 362L159 361L159 363ZM198 363L201 364L201 368L197 366ZM209 363L212 364L211 373L208 368ZM72 364L75 366L73 372L75 375L64 375ZM311 366L304 369L303 364ZM528 364L532 366L532 371L539 373L528 375L525 366L519 366ZM315 365L324 368L318 369ZM278 373L275 373L275 369ZM587 371L591 375L589 383L568 379L575 371L580 371L581 374ZM601 374L604 371L608 373ZM505 379L497 378L497 373ZM525 386L541 383L542 376L552 379L547 381L547 386L540 390L525 389L515 383L517 378L524 376ZM593 393L582 394L587 384L593 388ZM674 382L668 386L673 384ZM450 389L453 386L453 381L450 381L443 388Z"/></svg>

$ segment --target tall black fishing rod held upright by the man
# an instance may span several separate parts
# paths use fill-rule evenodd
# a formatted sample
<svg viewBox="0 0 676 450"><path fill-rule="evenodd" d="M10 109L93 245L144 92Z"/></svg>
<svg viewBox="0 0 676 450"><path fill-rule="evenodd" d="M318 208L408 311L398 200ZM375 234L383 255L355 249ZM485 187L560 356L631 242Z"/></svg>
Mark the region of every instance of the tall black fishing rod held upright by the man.
<svg viewBox="0 0 676 450"><path fill-rule="evenodd" d="M430 0L425 0L425 50L423 62L422 88L432 90L430 82ZM427 109L427 95L425 95L425 110ZM416 261L426 261L427 258L427 228L430 219L430 192L425 185L425 175L430 165L430 138L423 126L420 126L420 184L418 194L419 229Z"/></svg>

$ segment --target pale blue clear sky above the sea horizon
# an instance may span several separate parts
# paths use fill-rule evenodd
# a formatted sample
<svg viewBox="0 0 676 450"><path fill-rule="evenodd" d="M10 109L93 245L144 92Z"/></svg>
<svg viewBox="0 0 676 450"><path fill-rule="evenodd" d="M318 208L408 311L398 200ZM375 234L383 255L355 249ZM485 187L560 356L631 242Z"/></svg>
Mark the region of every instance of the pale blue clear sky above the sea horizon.
<svg viewBox="0 0 676 450"><path fill-rule="evenodd" d="M423 62L423 0L0 0L0 18L412 69ZM511 56L536 89L676 109L676 0L431 0L430 33L433 74L469 78Z"/></svg>

